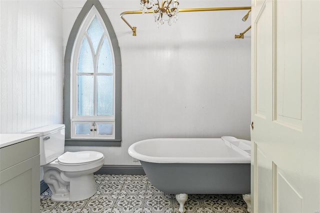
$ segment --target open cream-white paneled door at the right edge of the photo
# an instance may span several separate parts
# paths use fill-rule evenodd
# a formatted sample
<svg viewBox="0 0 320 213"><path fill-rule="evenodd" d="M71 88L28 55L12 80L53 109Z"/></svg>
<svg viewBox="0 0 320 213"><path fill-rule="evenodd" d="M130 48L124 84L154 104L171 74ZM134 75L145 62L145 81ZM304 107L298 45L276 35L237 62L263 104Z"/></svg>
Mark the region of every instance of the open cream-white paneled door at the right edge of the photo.
<svg viewBox="0 0 320 213"><path fill-rule="evenodd" d="M251 204L320 212L320 1L252 0Z"/></svg>

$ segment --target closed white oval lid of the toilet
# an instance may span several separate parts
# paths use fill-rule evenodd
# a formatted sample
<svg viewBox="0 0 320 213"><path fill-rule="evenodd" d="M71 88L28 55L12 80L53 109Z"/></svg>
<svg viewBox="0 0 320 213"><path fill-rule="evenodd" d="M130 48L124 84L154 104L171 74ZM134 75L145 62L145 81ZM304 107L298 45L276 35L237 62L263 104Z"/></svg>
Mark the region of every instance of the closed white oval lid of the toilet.
<svg viewBox="0 0 320 213"><path fill-rule="evenodd" d="M99 160L103 157L103 154L97 151L76 151L65 152L58 157L58 161L61 164L85 164L92 161Z"/></svg>

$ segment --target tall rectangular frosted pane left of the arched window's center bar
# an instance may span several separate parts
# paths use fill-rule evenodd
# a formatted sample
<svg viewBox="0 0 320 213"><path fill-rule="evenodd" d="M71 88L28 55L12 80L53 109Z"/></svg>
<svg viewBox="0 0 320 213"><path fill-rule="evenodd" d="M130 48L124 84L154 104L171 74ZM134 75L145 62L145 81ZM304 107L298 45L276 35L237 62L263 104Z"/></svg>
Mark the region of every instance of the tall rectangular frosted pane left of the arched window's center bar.
<svg viewBox="0 0 320 213"><path fill-rule="evenodd" d="M78 75L78 115L94 115L93 76Z"/></svg>

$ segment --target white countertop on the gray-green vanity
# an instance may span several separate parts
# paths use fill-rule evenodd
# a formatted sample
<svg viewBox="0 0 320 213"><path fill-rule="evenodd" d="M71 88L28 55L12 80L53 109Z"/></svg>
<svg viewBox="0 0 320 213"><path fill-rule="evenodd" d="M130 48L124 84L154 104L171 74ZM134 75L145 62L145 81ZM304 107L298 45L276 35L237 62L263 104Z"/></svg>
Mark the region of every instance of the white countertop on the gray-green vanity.
<svg viewBox="0 0 320 213"><path fill-rule="evenodd" d="M0 148L39 136L39 133L0 134Z"/></svg>

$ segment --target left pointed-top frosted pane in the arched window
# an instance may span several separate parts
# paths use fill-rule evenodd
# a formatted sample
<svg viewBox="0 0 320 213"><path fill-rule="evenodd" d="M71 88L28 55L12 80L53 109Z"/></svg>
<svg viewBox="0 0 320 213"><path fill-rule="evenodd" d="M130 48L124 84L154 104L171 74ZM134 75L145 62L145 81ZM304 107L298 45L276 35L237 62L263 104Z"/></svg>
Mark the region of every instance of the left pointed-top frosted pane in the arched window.
<svg viewBox="0 0 320 213"><path fill-rule="evenodd" d="M78 72L93 72L92 53L86 37L84 37L81 45L78 61Z"/></svg>

